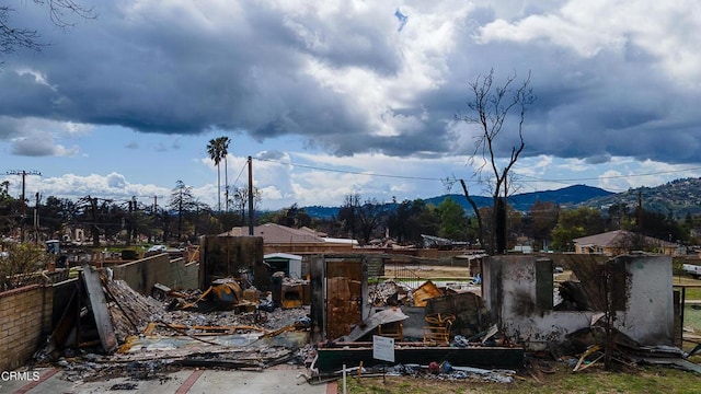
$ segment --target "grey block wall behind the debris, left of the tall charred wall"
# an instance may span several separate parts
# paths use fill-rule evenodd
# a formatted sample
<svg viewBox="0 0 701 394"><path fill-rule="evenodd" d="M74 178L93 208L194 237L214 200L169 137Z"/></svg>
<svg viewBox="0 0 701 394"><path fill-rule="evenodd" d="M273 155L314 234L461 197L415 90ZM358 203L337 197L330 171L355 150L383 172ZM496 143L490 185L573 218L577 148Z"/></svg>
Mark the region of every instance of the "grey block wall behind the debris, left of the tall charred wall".
<svg viewBox="0 0 701 394"><path fill-rule="evenodd" d="M172 289L196 289L199 263L186 263L183 258L171 260L163 253L112 267L114 279L126 281L141 294L150 294L153 285Z"/></svg>

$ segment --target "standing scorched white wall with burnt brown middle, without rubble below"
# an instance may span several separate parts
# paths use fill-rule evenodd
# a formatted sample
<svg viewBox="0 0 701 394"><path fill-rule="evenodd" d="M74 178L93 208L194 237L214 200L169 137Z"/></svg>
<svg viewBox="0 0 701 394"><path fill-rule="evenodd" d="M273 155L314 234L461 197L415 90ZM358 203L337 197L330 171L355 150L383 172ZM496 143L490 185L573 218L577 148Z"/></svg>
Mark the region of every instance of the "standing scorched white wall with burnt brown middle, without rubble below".
<svg viewBox="0 0 701 394"><path fill-rule="evenodd" d="M554 303L554 262L577 279L586 306L559 310ZM671 257L624 255L494 256L484 265L484 301L509 337L542 350L608 312L613 328L642 345L674 344ZM607 306L608 305L608 306Z"/></svg>

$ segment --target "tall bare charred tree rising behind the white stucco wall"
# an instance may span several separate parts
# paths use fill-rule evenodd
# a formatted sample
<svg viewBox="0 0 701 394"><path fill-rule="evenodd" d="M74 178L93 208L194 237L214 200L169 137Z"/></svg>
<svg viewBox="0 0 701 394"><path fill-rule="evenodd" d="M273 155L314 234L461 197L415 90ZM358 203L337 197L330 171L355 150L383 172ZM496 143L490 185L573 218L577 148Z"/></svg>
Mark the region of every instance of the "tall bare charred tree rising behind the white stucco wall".
<svg viewBox="0 0 701 394"><path fill-rule="evenodd" d="M458 116L460 120L476 125L480 131L475 137L472 153L473 161L482 161L476 170L478 177L483 179L483 170L491 170L487 179L493 199L494 209L491 220L494 231L490 234L490 242L487 242L490 254L506 252L506 209L510 187L507 181L510 182L510 171L526 147L524 141L526 111L536 101L530 88L530 73L521 84L517 84L516 77L514 73L499 86L494 82L494 70L479 76L474 82L470 83L473 97L468 103L468 107L471 114ZM514 123L515 126L505 128L507 123ZM515 141L509 153L501 148L501 141L505 141L504 143ZM463 192L470 200L467 188L463 188Z"/></svg>

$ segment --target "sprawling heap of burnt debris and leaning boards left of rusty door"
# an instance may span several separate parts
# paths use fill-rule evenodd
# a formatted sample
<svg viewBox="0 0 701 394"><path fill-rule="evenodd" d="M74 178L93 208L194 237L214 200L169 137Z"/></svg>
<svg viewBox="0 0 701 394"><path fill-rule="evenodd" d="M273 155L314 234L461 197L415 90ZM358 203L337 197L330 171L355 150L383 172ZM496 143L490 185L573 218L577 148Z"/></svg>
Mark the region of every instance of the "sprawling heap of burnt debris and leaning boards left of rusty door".
<svg viewBox="0 0 701 394"><path fill-rule="evenodd" d="M246 293L233 279L205 292L157 285L146 297L88 265L81 278L64 318L35 355L39 363L64 368L68 380L125 373L161 379L175 364L260 370L309 358L309 308L266 312L257 308L257 290Z"/></svg>

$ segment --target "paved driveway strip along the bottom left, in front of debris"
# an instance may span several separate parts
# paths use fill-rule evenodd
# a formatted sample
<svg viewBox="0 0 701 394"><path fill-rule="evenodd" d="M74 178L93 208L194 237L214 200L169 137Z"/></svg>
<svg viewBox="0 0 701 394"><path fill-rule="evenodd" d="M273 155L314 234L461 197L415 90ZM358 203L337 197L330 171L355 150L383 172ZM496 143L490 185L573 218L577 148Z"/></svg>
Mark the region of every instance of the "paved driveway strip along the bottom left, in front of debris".
<svg viewBox="0 0 701 394"><path fill-rule="evenodd" d="M307 370L277 366L262 372L234 370L181 369L161 380L113 378L96 382L69 382L59 369L38 369L38 380L2 380L0 393L256 393L256 394L335 394L336 384L311 385L298 375Z"/></svg>

